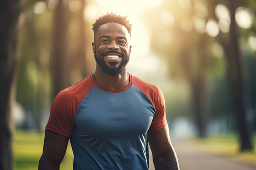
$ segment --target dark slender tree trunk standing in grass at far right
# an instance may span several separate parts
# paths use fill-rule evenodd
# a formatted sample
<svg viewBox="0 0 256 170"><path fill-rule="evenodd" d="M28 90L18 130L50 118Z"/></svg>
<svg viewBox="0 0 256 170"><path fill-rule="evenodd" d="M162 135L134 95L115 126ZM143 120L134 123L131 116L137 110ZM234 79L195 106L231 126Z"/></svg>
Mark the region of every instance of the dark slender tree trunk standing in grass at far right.
<svg viewBox="0 0 256 170"><path fill-rule="evenodd" d="M252 143L248 124L246 122L246 98L244 92L244 68L241 52L238 46L238 32L235 23L235 12L238 7L237 0L230 0L231 24L230 24L230 45L227 51L228 77L230 89L236 109L238 131L240 133L240 150L252 150Z"/></svg>

